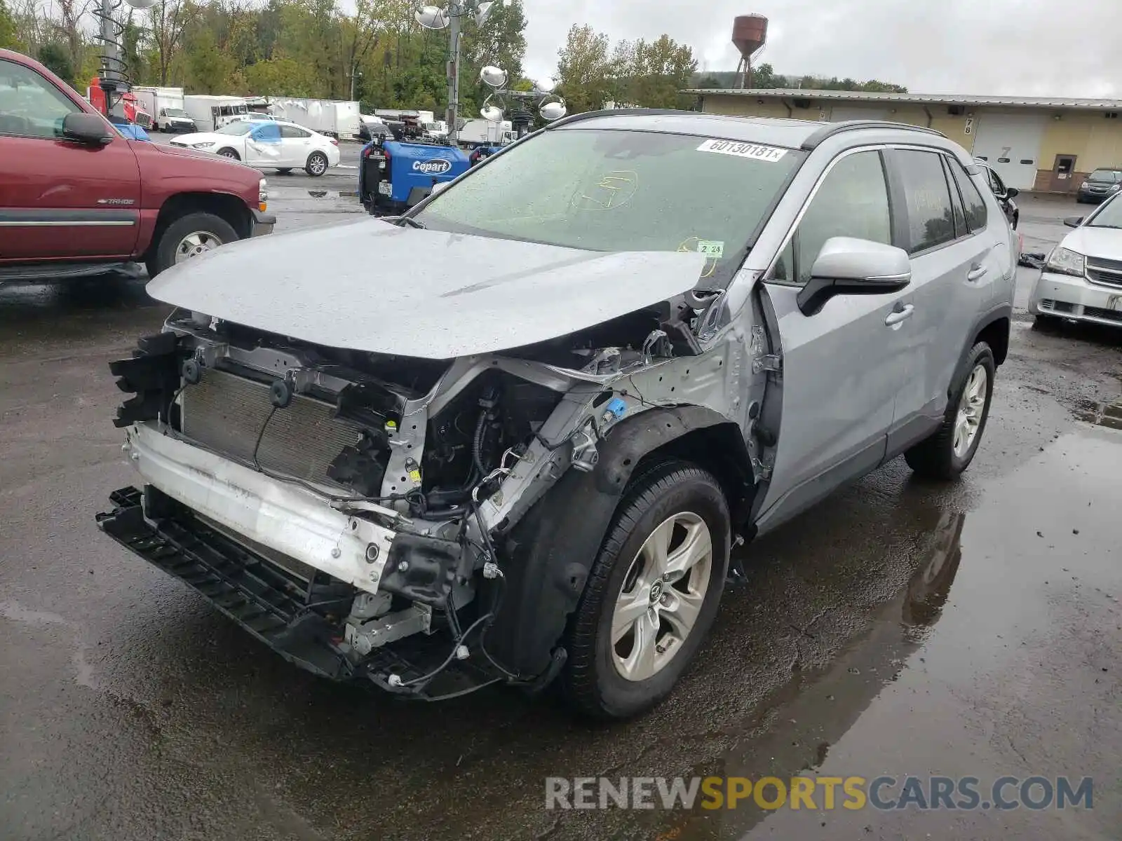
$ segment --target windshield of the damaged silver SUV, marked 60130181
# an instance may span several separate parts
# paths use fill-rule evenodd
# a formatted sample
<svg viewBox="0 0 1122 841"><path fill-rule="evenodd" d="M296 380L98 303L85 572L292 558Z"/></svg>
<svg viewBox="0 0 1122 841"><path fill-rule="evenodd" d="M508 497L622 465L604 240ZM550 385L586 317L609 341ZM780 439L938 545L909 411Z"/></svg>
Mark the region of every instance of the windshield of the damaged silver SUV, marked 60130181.
<svg viewBox="0 0 1122 841"><path fill-rule="evenodd" d="M802 153L686 135L546 131L434 197L427 228L589 251L700 251L727 283Z"/></svg>

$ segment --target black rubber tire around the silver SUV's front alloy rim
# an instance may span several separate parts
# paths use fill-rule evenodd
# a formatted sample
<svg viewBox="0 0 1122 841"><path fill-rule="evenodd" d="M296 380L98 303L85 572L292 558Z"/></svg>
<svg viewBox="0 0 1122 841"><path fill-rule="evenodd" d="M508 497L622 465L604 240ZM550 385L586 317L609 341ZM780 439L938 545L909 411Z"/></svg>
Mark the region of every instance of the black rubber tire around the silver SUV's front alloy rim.
<svg viewBox="0 0 1122 841"><path fill-rule="evenodd" d="M633 572L637 574L635 564L647 537L678 514L700 518L709 530L712 560L708 584L697 619L678 650L649 678L631 681L620 675L614 663L611 621L616 601L625 581ZM632 480L570 618L565 640L569 658L561 675L561 690L573 708L596 719L623 719L654 706L670 693L717 616L728 572L729 533L728 503L720 484L707 471L670 461ZM634 586L640 586L638 581ZM669 593L675 584L665 586ZM656 599L653 588L651 598ZM661 626L657 632L662 632Z"/></svg>

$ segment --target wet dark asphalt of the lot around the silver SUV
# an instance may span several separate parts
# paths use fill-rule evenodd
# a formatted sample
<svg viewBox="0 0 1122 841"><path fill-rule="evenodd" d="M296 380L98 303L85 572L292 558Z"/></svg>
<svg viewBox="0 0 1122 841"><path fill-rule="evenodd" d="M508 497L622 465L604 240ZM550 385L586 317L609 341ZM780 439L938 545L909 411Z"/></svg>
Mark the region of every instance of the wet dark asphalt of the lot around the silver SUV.
<svg viewBox="0 0 1122 841"><path fill-rule="evenodd" d="M292 181L278 232L357 211ZM1074 212L1026 200L1026 250ZM590 727L316 680L102 536L134 481L105 363L165 312L137 281L0 288L0 838L1122 837L1122 432L1080 419L1122 391L1122 331L1022 313L963 481L896 460L749 545L671 699ZM1093 777L1094 808L544 808L554 775L800 771Z"/></svg>

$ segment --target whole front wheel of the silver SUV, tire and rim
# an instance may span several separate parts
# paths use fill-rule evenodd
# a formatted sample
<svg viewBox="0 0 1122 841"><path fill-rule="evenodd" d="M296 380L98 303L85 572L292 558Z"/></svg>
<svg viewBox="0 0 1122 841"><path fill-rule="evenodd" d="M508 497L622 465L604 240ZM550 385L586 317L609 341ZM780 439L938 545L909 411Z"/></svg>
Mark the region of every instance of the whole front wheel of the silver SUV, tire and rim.
<svg viewBox="0 0 1122 841"><path fill-rule="evenodd" d="M623 719L670 693L716 618L729 532L707 471L666 462L632 481L567 634L573 706Z"/></svg>

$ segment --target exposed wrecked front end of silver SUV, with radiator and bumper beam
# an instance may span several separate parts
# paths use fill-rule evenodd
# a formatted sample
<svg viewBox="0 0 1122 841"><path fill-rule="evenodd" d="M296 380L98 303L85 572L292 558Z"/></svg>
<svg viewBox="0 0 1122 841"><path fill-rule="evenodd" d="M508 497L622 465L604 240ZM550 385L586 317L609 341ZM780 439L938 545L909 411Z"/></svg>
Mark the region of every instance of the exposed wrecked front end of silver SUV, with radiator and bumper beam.
<svg viewBox="0 0 1122 841"><path fill-rule="evenodd" d="M532 666L494 654L511 649L508 622L487 638L524 612L505 599L517 524L563 474L591 473L613 428L672 382L686 403L727 396L734 360L703 373L691 339L652 331L659 315L425 360L177 309L111 364L140 481L99 525L319 675L422 699L542 686L564 662L555 632ZM636 340L601 346L619 331Z"/></svg>

